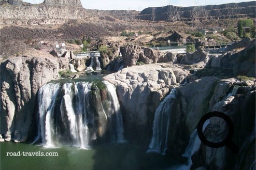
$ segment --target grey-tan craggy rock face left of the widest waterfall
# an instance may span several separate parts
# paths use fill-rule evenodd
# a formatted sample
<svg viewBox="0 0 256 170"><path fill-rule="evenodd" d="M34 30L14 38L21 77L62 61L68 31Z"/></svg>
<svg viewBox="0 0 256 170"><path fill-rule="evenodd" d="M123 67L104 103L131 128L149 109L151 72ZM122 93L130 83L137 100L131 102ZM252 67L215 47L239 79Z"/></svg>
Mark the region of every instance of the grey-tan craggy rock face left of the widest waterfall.
<svg viewBox="0 0 256 170"><path fill-rule="evenodd" d="M67 67L67 60L47 57L16 57L1 64L1 134L7 141L27 140L38 89Z"/></svg>

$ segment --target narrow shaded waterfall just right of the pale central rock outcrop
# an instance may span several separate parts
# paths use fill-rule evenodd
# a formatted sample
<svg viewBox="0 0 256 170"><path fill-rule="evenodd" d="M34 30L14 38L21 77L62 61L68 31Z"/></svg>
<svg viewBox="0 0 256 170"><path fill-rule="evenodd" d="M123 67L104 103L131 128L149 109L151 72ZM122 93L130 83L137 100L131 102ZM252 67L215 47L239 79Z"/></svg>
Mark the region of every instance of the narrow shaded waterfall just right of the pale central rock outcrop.
<svg viewBox="0 0 256 170"><path fill-rule="evenodd" d="M154 114L153 136L147 152L157 152L165 154L168 143L168 130L170 114L176 93L176 88L173 88L170 94L164 98L159 104Z"/></svg>

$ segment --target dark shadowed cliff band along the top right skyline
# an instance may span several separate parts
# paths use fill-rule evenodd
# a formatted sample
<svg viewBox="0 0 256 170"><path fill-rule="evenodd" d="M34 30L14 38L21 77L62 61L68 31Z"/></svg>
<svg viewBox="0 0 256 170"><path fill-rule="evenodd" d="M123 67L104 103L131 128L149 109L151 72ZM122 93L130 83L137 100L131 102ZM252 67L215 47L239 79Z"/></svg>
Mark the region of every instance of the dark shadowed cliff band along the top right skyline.
<svg viewBox="0 0 256 170"><path fill-rule="evenodd" d="M202 21L255 17L255 2L197 7L153 7L140 12L138 19L150 21Z"/></svg>

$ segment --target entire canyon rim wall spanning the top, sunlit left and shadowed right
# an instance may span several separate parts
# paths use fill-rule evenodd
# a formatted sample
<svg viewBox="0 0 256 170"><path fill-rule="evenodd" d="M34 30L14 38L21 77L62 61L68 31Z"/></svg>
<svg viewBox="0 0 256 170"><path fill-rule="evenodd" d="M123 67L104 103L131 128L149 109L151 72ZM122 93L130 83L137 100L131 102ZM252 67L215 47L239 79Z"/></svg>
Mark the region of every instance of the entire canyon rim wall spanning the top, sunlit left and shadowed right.
<svg viewBox="0 0 256 170"><path fill-rule="evenodd" d="M79 0L46 0L42 4L2 3L1 24L62 24L70 19L111 16L120 20L149 21L206 21L221 19L255 18L255 2L207 5L197 7L150 7L135 10L89 10Z"/></svg>

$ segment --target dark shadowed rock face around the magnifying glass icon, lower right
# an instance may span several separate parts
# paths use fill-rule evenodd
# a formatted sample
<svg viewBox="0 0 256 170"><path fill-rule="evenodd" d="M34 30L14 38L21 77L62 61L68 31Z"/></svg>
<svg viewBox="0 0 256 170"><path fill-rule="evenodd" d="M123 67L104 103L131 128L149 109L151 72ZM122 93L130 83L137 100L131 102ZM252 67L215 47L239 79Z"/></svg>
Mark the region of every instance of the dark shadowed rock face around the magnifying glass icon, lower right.
<svg viewBox="0 0 256 170"><path fill-rule="evenodd" d="M181 155L184 152L177 148L186 147L184 141L189 139L186 134L191 134L201 117L211 111L223 112L231 118L235 128L233 141L238 146L247 142L245 139L250 137L255 126L255 104L252 104L255 102L255 83L247 86L237 79L220 80L212 76L177 87L177 90L176 109L172 113L169 128L171 154ZM221 133L226 128L225 122L218 118L210 119L210 125L218 125ZM242 152L246 153L247 150L241 149ZM229 148L209 148L202 144L201 149L192 157L192 168L207 165L234 169L236 156L238 154L233 154Z"/></svg>

